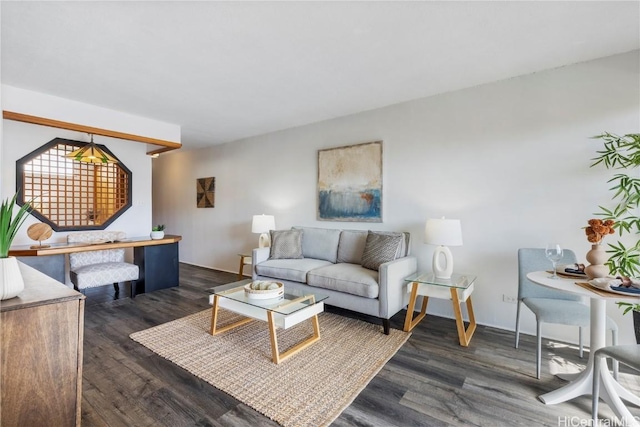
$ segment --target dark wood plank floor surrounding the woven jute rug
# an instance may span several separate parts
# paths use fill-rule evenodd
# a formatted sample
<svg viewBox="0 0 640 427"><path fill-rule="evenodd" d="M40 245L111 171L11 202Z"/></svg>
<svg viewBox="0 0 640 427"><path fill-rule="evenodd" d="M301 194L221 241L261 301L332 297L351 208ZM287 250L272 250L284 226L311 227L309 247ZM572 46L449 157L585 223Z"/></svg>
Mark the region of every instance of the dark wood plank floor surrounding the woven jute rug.
<svg viewBox="0 0 640 427"><path fill-rule="evenodd" d="M110 286L87 291L85 427L276 425L129 338L132 332L207 308L208 288L236 280L235 274L180 267L179 287L133 300L127 297L128 288L119 295ZM402 327L405 313L393 317L392 327ZM536 398L564 384L552 373L578 371L586 359L578 358L574 346L545 340L543 376L537 380L534 338L523 336L518 350L513 338L513 332L479 326L470 346L463 348L453 320L427 316L333 425L588 425L589 397L552 406ZM640 392L640 377L623 370L621 378ZM606 404L601 409L601 415L611 417ZM639 408L630 409L640 417Z"/></svg>

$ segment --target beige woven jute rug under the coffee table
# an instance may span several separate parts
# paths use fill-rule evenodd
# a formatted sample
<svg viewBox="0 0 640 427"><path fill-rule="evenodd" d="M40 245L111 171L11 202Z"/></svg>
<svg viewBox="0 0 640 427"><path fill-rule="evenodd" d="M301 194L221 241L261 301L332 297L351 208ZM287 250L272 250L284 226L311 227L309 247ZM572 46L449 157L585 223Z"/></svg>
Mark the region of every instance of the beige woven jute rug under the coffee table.
<svg viewBox="0 0 640 427"><path fill-rule="evenodd" d="M238 320L220 309L219 325ZM211 310L131 338L283 426L326 426L353 402L411 334L321 313L320 340L276 365L265 322L209 335ZM311 335L310 321L278 329L280 351Z"/></svg>

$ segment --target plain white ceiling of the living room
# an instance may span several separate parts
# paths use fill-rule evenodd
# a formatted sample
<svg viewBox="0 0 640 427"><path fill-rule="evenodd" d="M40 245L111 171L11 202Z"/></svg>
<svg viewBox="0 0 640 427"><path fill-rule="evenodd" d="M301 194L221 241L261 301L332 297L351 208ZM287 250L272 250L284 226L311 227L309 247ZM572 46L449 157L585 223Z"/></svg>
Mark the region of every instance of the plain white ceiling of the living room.
<svg viewBox="0 0 640 427"><path fill-rule="evenodd" d="M1 2L2 83L185 148L640 48L640 2Z"/></svg>

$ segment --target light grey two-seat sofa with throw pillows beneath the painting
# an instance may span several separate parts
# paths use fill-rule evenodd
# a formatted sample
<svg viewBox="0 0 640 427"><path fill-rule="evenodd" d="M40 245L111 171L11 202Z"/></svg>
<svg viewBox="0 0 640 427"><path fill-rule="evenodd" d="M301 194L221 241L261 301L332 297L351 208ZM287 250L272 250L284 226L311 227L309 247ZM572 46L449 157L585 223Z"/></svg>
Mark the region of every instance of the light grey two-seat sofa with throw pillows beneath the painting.
<svg viewBox="0 0 640 427"><path fill-rule="evenodd" d="M381 318L389 334L407 302L403 279L417 269L409 233L293 227L271 239L271 248L253 250L253 280L327 295L328 305Z"/></svg>

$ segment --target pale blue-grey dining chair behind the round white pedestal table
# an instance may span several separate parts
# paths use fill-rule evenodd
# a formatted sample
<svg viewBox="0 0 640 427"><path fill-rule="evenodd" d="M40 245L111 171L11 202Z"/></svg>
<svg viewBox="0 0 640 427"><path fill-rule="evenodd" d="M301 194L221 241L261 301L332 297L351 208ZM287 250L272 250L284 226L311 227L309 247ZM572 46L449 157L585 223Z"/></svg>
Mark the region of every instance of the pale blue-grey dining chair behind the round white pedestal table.
<svg viewBox="0 0 640 427"><path fill-rule="evenodd" d="M563 251L559 264L573 264L576 255L570 249ZM518 348L520 340L520 311L526 305L536 316L536 378L540 379L542 363L542 324L562 324L578 327L578 345L580 357L583 356L582 328L589 326L591 312L589 306L582 303L576 295L570 295L555 289L533 283L527 274L533 271L544 271L551 268L551 262L542 248L521 248L518 250L518 308L516 312L516 340ZM611 329L611 342L618 343L618 325L607 316L607 329ZM618 364L613 364L613 375L618 378Z"/></svg>

